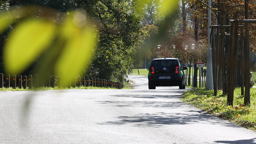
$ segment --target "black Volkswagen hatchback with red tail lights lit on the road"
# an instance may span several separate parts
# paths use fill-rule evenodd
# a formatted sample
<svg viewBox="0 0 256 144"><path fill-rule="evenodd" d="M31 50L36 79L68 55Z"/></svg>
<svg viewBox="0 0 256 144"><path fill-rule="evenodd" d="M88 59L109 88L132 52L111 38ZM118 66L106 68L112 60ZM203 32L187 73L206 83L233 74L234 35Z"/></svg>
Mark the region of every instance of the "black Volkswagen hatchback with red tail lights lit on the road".
<svg viewBox="0 0 256 144"><path fill-rule="evenodd" d="M159 86L179 86L185 89L185 74L181 68L178 58L156 58L153 59L148 68L149 89Z"/></svg>

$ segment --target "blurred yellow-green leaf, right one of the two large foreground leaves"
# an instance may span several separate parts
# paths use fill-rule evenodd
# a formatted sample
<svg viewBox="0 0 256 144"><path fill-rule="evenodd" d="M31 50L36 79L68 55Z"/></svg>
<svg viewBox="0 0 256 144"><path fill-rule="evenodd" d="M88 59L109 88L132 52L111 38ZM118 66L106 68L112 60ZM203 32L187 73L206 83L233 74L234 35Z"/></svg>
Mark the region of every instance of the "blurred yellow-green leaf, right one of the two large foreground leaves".
<svg viewBox="0 0 256 144"><path fill-rule="evenodd" d="M62 37L67 39L67 42L55 66L64 84L81 73L96 42L95 29L86 23L85 17L80 17L80 21L76 21L76 18L75 14L74 19L68 19L63 26Z"/></svg>

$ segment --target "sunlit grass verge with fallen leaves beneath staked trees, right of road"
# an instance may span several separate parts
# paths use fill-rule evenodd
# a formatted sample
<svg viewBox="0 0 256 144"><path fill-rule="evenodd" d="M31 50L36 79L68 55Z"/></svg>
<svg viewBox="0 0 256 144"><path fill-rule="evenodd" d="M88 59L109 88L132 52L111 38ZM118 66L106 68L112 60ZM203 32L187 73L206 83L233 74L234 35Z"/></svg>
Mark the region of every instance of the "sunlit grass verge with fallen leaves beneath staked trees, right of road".
<svg viewBox="0 0 256 144"><path fill-rule="evenodd" d="M209 114L222 119L234 122L237 125L256 131L256 89L250 89L251 105L244 106L244 99L241 98L241 88L234 90L233 106L227 105L227 96L218 91L214 96L213 90L204 90L204 88L193 88L185 91L181 100L191 104Z"/></svg>

